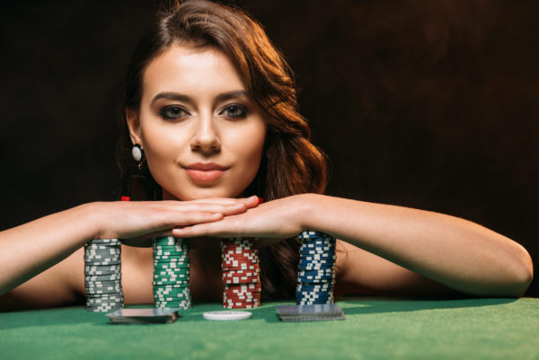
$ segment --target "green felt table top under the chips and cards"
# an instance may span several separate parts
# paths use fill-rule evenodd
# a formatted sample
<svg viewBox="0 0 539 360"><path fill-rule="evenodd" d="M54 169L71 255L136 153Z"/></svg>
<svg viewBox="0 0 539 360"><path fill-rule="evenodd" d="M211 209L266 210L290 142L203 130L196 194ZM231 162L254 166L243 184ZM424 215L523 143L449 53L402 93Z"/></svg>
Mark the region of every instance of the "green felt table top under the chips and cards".
<svg viewBox="0 0 539 360"><path fill-rule="evenodd" d="M84 307L0 313L0 359L539 359L539 299L337 302L346 320L208 321L194 304L172 324L112 325Z"/></svg>

